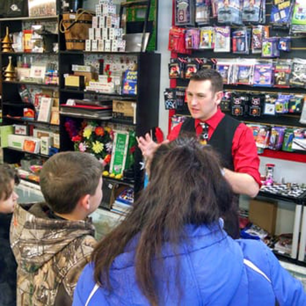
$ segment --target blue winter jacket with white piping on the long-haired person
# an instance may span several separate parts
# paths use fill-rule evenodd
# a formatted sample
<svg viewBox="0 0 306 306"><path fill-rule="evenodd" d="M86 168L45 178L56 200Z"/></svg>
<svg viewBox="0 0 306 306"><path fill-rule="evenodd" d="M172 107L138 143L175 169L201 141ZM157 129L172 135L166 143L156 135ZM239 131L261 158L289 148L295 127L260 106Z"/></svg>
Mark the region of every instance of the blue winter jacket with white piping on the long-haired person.
<svg viewBox="0 0 306 306"><path fill-rule="evenodd" d="M283 269L262 242L233 240L213 226L185 227L187 240L178 248L162 249L163 266L155 261L159 305L280 306L306 305L302 284ZM77 283L73 306L149 305L135 279L137 236L110 269L113 290L95 284L93 264ZM177 286L177 280L180 280ZM177 288L181 288L177 289Z"/></svg>

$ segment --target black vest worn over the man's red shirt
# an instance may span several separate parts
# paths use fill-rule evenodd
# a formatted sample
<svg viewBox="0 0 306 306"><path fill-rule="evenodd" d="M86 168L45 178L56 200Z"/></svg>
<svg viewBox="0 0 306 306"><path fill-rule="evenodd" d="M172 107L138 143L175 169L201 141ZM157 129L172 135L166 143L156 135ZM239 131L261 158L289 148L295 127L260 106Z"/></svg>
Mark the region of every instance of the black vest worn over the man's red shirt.
<svg viewBox="0 0 306 306"><path fill-rule="evenodd" d="M179 136L196 136L195 120L187 118L182 126ZM222 166L234 170L232 144L235 131L240 122L230 116L225 115L219 122L214 133L211 135L207 144L211 145L218 152Z"/></svg>

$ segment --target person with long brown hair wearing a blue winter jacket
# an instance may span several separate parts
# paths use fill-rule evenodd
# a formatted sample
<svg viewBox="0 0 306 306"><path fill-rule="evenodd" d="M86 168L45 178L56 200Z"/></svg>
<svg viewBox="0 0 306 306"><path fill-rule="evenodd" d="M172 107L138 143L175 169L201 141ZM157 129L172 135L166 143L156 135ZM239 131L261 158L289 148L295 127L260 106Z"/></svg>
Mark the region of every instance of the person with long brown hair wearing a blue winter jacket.
<svg viewBox="0 0 306 306"><path fill-rule="evenodd" d="M222 229L232 196L211 148L162 144L131 213L96 246L73 306L306 305L301 283L262 242Z"/></svg>

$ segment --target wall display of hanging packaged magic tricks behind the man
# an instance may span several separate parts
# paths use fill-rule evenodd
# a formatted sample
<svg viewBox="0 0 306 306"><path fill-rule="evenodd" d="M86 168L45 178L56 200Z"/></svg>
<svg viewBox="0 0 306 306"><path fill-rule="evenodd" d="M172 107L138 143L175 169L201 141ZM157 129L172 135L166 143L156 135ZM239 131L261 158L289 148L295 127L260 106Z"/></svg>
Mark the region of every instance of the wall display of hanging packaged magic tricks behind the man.
<svg viewBox="0 0 306 306"><path fill-rule="evenodd" d="M300 14L297 9L293 10L294 3L250 2L250 6L260 8L258 13L256 10L251 12L247 7L248 1L245 1L241 18L239 10L232 7L235 1L212 0L208 6L207 2L196 2L196 5L193 1L184 2L186 6L182 9L179 6L181 2L173 0L173 27L168 46L172 51L170 87L184 90L191 74L197 69L216 69L224 78L226 96L221 103L223 112L250 125L262 125L263 130L269 133L273 127L285 126L286 132L288 130L285 136L289 137L291 133L292 139L303 139L299 146L303 145L306 140L306 124L302 119L302 114L306 114L306 107L303 109L306 96L306 29L305 26L291 24L291 16ZM222 9L222 3L227 10ZM282 6L278 6L279 3ZM230 16L233 12L237 13L236 19ZM258 19L253 20L246 12L256 13ZM277 14L284 18L278 18ZM286 60L291 60L290 72L282 70ZM288 78L285 79L284 75ZM165 106L168 104L165 96ZM169 127L180 122L184 116L190 116L186 103L179 107L179 103L172 105L175 107L169 112ZM172 120L174 114L176 117ZM178 118L180 115L183 116L181 119ZM267 153L269 157L306 162L306 150L291 147L293 140L292 144L280 149L268 148L268 144L269 141L259 149L263 156Z"/></svg>

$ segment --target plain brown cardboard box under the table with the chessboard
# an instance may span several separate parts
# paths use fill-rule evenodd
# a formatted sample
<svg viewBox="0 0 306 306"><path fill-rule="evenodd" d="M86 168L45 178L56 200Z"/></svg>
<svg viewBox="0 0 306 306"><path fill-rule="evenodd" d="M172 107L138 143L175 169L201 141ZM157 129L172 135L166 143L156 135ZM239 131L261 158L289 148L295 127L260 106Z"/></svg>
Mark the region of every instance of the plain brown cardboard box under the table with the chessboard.
<svg viewBox="0 0 306 306"><path fill-rule="evenodd" d="M277 203L251 200L249 219L267 232L274 235L276 223Z"/></svg>

